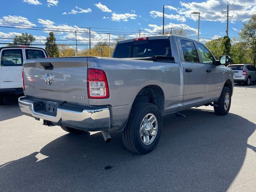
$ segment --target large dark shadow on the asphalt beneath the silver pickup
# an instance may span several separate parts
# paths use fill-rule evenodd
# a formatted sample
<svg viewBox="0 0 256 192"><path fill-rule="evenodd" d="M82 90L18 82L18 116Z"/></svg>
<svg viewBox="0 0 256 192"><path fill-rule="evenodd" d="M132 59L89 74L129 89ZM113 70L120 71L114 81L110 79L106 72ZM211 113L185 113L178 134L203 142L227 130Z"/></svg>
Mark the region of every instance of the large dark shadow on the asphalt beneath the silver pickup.
<svg viewBox="0 0 256 192"><path fill-rule="evenodd" d="M238 174L256 124L236 114L189 109L164 117L150 154L104 144L101 133L66 134L38 152L0 166L2 191L226 191ZM38 159L39 156L39 159Z"/></svg>

